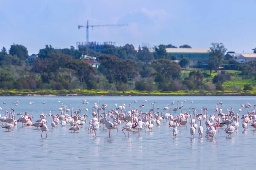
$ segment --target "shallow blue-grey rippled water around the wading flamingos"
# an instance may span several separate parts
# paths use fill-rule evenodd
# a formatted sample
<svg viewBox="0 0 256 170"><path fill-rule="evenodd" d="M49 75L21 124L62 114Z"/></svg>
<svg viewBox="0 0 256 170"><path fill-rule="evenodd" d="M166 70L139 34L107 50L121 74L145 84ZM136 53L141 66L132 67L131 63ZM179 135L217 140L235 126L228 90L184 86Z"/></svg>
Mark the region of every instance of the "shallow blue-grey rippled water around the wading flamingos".
<svg viewBox="0 0 256 170"><path fill-rule="evenodd" d="M90 104L83 105L81 99L86 99ZM246 131L241 127L241 116L246 114L245 108L242 108L240 115L239 129L236 130L231 137L227 138L225 128L218 128L215 138L208 140L205 137L206 127L204 127L203 137L198 137L196 130L195 137L192 138L189 128L178 127L179 133L177 138L172 136L172 127L168 122L161 122L160 126L154 124L152 132L141 130L141 136L138 133L131 132L130 138L125 138L122 133L122 127L112 130L112 137L108 137L108 130L101 126L97 130L96 138L93 133L88 131L88 122L92 118L91 108L94 103L99 100L102 105L108 102L107 110L113 109L114 104L121 105L121 99L126 104L125 110L129 110L128 103L131 107L139 108L139 105L145 105L142 111L149 111L152 108L151 103L156 102L156 108L160 111L175 100L183 102L183 111L188 112L189 107L195 107L197 113L204 106L209 109L208 115L213 113L218 100L223 102L223 113L227 108L237 113L240 104L247 101L254 105L255 97L253 96L64 96L64 97L0 97L0 111L4 116L4 111L15 109L17 113L27 111L34 116L33 122L39 119L39 115L44 112L47 114L48 128L47 138L43 133L41 138L41 130L36 127L21 127L21 122L13 127L11 131L0 129L0 169L242 169L244 167L252 169L254 164L254 140L256 139L256 130L249 127ZM57 114L61 103L67 105L71 103L71 108L79 110L82 114L86 113L88 108L87 123L78 132L70 132L66 127L51 128L51 117L48 116L49 111ZM134 100L138 102L134 103ZM144 102L148 100L148 102ZM12 102L19 101L19 105L15 106ZM193 103L191 103L193 101ZM2 103L6 102L6 105ZM29 105L29 102L34 102ZM46 104L41 104L46 102ZM219 105L218 105L219 106ZM253 111L253 106L249 108ZM156 110L157 111L157 110ZM172 109L171 109L172 111ZM165 112L164 112L165 113ZM172 113L174 116L179 114ZM81 114L81 113L80 113ZM17 119L18 116L16 116ZM199 122L197 122L199 126ZM2 127L2 125L1 125ZM128 131L125 131L128 134ZM50 168L49 168L50 167Z"/></svg>

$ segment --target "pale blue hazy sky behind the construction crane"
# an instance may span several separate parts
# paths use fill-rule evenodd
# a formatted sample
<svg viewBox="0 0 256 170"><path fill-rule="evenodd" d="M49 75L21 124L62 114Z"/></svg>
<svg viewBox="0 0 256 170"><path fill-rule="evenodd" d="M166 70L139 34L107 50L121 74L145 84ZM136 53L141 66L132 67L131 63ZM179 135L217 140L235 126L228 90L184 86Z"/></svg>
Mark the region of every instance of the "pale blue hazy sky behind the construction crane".
<svg viewBox="0 0 256 170"><path fill-rule="evenodd" d="M76 47L86 41L78 25L128 24L89 28L89 41L154 47L160 44L228 51L256 47L255 0L0 0L0 48L22 44L29 54L45 45Z"/></svg>

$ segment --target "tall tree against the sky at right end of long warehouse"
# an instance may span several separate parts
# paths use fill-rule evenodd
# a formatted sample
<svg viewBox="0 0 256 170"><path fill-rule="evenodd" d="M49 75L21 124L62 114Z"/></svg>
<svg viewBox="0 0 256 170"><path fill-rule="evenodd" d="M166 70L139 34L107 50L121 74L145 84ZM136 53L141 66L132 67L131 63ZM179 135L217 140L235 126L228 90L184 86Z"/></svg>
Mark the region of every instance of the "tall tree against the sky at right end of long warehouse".
<svg viewBox="0 0 256 170"><path fill-rule="evenodd" d="M224 59L224 54L226 53L227 48L225 48L224 44L218 42L212 42L211 45L212 47L210 47L210 57L217 57L218 62L216 62L216 65L217 68L219 68L222 64L222 60Z"/></svg>

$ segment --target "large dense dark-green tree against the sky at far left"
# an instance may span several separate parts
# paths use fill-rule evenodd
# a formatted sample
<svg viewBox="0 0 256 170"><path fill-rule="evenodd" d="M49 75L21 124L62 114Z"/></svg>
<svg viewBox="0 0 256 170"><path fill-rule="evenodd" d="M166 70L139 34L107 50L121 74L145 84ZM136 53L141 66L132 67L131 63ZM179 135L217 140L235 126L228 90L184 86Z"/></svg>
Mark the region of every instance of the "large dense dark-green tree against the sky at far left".
<svg viewBox="0 0 256 170"><path fill-rule="evenodd" d="M23 45L13 44L9 49L9 54L12 56L17 55L18 58L26 60L29 57L28 50Z"/></svg>

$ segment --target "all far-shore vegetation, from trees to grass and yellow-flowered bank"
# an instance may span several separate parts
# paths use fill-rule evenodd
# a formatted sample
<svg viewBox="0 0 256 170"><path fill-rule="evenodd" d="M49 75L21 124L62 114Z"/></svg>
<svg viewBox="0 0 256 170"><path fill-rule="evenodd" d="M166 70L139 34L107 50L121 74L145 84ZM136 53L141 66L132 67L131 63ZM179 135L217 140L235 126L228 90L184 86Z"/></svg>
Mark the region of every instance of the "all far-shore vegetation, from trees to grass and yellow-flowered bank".
<svg viewBox="0 0 256 170"><path fill-rule="evenodd" d="M13 44L8 52L5 47L0 52L0 95L256 94L256 65L224 61L227 49L222 43L212 43L207 69L181 68L189 65L189 59L175 62L166 48L177 47L159 45L152 50L144 46L136 51L129 44L88 45L77 50L46 45L37 58L28 60L27 48ZM99 68L84 60L85 55L96 57ZM221 70L223 62L235 66Z"/></svg>

